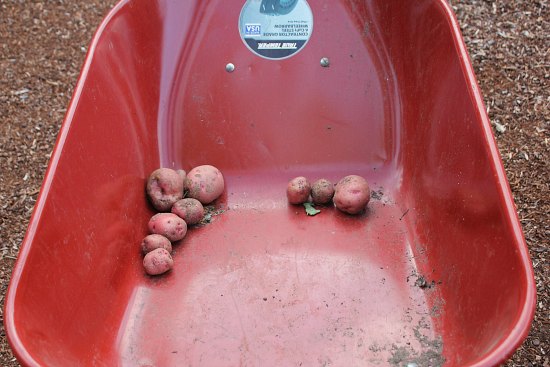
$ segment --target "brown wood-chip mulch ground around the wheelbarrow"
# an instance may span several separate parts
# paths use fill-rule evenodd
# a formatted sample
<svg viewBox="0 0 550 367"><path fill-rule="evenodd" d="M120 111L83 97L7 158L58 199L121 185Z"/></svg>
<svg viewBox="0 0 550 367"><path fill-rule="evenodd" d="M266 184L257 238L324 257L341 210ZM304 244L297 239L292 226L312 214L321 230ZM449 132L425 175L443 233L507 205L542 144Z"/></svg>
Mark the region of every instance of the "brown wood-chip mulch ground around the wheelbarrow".
<svg viewBox="0 0 550 367"><path fill-rule="evenodd" d="M547 0L453 0L535 269L531 333L507 366L550 366ZM94 30L114 0L0 0L0 302ZM3 310L0 310L0 319ZM0 365L18 366L0 327Z"/></svg>

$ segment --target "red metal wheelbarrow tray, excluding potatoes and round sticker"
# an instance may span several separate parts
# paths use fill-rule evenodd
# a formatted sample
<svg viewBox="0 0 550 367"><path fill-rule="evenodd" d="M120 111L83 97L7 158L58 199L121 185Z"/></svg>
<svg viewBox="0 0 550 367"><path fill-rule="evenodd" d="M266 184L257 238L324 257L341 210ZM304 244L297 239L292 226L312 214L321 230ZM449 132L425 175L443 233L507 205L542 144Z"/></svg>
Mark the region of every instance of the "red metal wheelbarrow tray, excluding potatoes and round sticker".
<svg viewBox="0 0 550 367"><path fill-rule="evenodd" d="M123 1L101 25L8 291L17 358L505 360L533 317L533 274L448 5L310 0L310 42L273 61L240 40L242 3ZM175 246L174 271L145 276L145 177L206 163L227 210ZM347 174L377 192L362 216L286 203L293 176Z"/></svg>

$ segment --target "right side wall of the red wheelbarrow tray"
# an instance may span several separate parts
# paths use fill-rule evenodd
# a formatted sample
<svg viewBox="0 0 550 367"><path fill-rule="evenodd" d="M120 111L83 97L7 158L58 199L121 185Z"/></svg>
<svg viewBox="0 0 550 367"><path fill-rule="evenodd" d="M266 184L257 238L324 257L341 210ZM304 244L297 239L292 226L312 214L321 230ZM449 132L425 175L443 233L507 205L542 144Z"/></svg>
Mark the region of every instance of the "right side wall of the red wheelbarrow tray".
<svg viewBox="0 0 550 367"><path fill-rule="evenodd" d="M458 26L443 1L370 3L399 80L402 197L414 250L428 259L419 271L441 282L433 311L445 357L450 365L496 365L526 336L535 291Z"/></svg>

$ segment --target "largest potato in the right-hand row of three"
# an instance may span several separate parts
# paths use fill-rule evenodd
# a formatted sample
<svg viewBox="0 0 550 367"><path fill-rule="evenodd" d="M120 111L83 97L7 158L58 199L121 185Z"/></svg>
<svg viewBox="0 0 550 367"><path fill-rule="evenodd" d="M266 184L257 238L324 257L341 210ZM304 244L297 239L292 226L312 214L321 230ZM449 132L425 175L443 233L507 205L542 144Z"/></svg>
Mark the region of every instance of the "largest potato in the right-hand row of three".
<svg viewBox="0 0 550 367"><path fill-rule="evenodd" d="M369 200L370 188L361 176L346 176L336 184L334 205L345 213L360 213L366 208Z"/></svg>

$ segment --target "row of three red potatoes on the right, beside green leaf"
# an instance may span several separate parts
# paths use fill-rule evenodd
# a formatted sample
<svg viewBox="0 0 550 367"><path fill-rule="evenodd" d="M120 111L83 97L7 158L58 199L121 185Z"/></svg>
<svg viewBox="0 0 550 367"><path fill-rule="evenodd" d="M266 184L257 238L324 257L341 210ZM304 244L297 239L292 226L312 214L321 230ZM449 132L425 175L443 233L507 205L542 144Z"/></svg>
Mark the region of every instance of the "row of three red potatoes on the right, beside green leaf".
<svg viewBox="0 0 550 367"><path fill-rule="evenodd" d="M290 180L286 195L290 204L304 204L311 196L313 204L326 205L332 201L344 213L359 214L369 203L370 188L367 180L357 175L346 176L336 185L324 178L310 185L307 178L300 176Z"/></svg>

